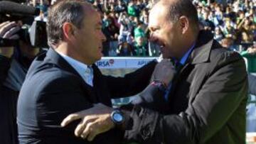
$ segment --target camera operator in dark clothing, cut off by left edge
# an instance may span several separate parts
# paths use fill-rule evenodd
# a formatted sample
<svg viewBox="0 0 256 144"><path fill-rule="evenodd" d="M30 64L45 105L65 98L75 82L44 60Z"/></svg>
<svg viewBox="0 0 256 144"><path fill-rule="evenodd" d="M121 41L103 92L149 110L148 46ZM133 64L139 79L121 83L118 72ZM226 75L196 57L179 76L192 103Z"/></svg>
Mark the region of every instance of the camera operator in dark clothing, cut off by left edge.
<svg viewBox="0 0 256 144"><path fill-rule="evenodd" d="M2 144L16 144L16 104L18 93L39 49L20 38L17 34L22 24L14 21L0 23L0 43L16 40L16 46L0 46L0 141ZM13 45L13 43L12 43Z"/></svg>

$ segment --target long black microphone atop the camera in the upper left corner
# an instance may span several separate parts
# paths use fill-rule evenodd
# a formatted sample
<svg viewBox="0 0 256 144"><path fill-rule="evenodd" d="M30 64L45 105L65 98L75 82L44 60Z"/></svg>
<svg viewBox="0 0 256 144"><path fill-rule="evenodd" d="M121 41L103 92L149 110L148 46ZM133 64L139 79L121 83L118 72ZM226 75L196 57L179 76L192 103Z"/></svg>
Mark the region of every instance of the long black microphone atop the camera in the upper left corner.
<svg viewBox="0 0 256 144"><path fill-rule="evenodd" d="M11 1L0 1L0 13L16 16L38 16L40 9L25 6Z"/></svg>

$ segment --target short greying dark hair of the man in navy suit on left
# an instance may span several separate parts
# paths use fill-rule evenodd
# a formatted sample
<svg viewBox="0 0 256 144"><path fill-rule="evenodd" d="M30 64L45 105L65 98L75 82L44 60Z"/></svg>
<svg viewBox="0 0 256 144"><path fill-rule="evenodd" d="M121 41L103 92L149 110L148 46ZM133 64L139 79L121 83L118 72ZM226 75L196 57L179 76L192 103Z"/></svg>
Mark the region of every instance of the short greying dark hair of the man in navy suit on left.
<svg viewBox="0 0 256 144"><path fill-rule="evenodd" d="M48 45L55 45L63 40L62 26L65 22L73 23L77 28L81 28L85 17L84 4L87 3L80 0L63 0L50 7L46 26Z"/></svg>

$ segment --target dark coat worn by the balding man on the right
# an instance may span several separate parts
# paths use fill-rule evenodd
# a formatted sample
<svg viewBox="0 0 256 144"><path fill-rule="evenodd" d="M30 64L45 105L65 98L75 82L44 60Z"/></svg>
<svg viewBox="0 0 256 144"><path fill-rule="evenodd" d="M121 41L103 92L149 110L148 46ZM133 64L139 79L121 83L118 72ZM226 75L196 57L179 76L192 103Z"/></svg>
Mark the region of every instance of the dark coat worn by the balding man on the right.
<svg viewBox="0 0 256 144"><path fill-rule="evenodd" d="M165 105L163 101L147 109L134 106L133 125L127 127L125 138L141 143L245 143L247 87L242 57L201 31L196 48L172 82L169 108L157 107ZM162 99L164 93L150 85L141 96L143 105Z"/></svg>

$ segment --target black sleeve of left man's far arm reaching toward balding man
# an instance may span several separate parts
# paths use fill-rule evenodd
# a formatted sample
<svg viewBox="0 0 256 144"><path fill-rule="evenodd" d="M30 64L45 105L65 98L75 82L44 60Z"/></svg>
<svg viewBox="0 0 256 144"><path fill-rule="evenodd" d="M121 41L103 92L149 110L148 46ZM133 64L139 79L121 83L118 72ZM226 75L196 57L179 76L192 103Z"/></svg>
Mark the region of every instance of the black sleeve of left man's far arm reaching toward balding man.
<svg viewBox="0 0 256 144"><path fill-rule="evenodd" d="M156 61L149 62L149 64L135 72L126 74L124 77L103 76L106 79L112 98L132 96L142 92L149 84L156 63Z"/></svg>

